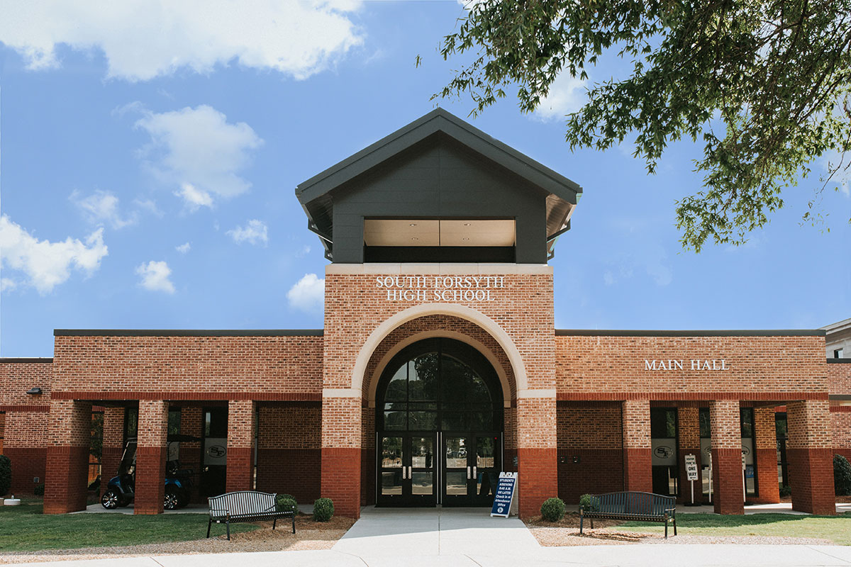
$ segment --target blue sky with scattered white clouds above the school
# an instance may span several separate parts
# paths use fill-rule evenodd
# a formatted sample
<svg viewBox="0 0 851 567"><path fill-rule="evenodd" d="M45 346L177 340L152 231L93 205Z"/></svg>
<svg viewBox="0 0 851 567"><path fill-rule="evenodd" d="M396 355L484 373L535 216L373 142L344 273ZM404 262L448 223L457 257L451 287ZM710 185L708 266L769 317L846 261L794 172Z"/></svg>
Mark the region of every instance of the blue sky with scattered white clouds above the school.
<svg viewBox="0 0 851 567"><path fill-rule="evenodd" d="M460 65L437 45L463 8L111 4L4 4L0 355L50 356L54 328L322 327L327 262L294 187L431 111ZM800 222L812 179L745 246L683 251L674 201L700 190L700 148L671 146L652 176L628 146L571 153L563 115L583 93L560 77L533 115L510 97L469 119L585 190L551 260L557 327L851 316L847 185L825 191L824 227Z"/></svg>

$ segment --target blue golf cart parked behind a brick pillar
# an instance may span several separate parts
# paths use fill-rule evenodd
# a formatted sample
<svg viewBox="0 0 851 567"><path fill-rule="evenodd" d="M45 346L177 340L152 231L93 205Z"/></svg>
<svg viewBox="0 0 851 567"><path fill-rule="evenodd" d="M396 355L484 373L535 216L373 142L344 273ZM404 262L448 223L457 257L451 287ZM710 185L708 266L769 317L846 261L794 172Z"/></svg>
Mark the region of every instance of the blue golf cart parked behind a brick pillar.
<svg viewBox="0 0 851 567"><path fill-rule="evenodd" d="M184 507L189 503L189 494L192 486L191 468L180 468L177 459L179 446L173 446L180 441L200 441L192 435L169 434L168 435L168 461L165 465L165 498L163 507L166 510ZM174 458L173 458L174 456ZM118 476L112 477L106 485L106 492L100 497L101 506L107 510L127 506L133 502L136 486L136 438L127 439L124 444L124 453L121 464L118 465Z"/></svg>

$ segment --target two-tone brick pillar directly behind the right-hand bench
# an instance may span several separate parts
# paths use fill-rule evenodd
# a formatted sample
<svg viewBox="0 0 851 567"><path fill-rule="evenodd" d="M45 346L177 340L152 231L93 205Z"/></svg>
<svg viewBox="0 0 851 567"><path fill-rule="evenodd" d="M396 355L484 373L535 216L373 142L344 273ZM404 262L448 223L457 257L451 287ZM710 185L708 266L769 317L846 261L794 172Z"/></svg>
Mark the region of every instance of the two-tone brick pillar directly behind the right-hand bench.
<svg viewBox="0 0 851 567"><path fill-rule="evenodd" d="M649 400L625 400L620 416L624 431L624 490L653 492Z"/></svg>

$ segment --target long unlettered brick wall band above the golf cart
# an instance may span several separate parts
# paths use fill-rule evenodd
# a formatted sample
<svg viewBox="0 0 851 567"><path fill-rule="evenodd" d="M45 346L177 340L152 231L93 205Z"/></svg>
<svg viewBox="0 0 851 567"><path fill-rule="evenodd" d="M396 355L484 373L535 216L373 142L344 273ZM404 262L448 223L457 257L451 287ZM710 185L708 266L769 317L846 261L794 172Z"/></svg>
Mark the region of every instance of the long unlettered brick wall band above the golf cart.
<svg viewBox="0 0 851 567"><path fill-rule="evenodd" d="M54 397L318 400L323 337L69 336L54 343Z"/></svg>

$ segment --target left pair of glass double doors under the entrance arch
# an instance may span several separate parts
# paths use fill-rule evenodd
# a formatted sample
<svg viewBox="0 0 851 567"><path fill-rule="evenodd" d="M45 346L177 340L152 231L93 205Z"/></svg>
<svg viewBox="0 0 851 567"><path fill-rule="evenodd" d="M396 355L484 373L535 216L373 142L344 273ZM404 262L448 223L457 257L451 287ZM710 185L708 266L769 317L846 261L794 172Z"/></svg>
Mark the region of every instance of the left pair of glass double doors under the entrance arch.
<svg viewBox="0 0 851 567"><path fill-rule="evenodd" d="M434 506L435 434L384 434L378 438L380 506Z"/></svg>

